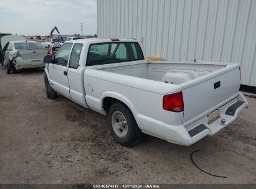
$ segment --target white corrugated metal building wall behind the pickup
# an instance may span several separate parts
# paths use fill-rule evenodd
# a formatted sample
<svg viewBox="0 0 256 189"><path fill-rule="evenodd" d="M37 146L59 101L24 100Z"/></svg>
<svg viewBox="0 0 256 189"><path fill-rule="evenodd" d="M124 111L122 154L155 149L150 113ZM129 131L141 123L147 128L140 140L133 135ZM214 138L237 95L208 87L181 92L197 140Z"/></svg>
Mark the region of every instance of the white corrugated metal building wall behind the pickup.
<svg viewBox="0 0 256 189"><path fill-rule="evenodd" d="M256 86L256 0L98 0L98 37L135 38L146 57L238 62Z"/></svg>

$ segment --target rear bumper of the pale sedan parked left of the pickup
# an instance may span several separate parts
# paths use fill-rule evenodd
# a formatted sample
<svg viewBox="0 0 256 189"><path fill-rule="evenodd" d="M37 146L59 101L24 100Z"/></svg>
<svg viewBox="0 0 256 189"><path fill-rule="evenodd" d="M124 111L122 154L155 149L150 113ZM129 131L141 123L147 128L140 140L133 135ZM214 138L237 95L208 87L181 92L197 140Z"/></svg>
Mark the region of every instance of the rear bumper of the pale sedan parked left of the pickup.
<svg viewBox="0 0 256 189"><path fill-rule="evenodd" d="M44 67L44 61L43 58L23 60L21 57L18 57L16 62L14 62L14 65L16 70L24 68L41 68Z"/></svg>

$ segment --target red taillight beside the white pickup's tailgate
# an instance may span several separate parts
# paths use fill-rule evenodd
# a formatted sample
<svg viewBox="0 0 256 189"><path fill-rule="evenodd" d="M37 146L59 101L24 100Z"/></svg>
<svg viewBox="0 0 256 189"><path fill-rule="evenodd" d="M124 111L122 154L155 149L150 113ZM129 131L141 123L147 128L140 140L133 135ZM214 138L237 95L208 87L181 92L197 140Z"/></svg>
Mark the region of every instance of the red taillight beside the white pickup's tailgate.
<svg viewBox="0 0 256 189"><path fill-rule="evenodd" d="M183 93L174 93L165 95L163 98L163 108L167 111L184 111Z"/></svg>

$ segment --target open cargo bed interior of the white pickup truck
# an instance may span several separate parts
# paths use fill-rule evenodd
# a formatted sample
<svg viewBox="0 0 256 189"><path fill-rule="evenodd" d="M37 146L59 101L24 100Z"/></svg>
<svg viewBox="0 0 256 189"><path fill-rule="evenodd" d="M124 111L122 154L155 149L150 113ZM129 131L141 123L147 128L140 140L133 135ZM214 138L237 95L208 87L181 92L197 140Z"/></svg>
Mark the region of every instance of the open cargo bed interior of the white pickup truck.
<svg viewBox="0 0 256 189"><path fill-rule="evenodd" d="M98 69L180 85L225 67L227 65L224 63L136 62L118 65L118 67L108 65L107 68Z"/></svg>

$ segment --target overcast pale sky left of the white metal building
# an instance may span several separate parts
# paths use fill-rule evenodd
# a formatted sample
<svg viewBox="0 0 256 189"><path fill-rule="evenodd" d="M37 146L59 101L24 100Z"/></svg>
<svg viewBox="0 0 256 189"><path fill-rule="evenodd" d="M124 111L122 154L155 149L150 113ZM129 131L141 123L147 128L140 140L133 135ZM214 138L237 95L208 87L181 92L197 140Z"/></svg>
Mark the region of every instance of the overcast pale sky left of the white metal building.
<svg viewBox="0 0 256 189"><path fill-rule="evenodd" d="M18 35L97 34L97 0L0 0L0 32ZM57 34L57 32L54 32Z"/></svg>

